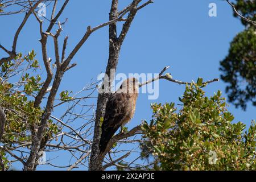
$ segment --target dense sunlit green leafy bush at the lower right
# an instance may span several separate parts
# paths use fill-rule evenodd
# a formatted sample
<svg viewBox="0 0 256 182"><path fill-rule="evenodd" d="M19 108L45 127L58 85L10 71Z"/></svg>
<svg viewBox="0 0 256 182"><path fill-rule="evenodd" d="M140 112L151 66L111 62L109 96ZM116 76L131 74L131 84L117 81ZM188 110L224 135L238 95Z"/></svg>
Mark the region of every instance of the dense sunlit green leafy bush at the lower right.
<svg viewBox="0 0 256 182"><path fill-rule="evenodd" d="M199 79L187 85L177 111L175 104L153 104L152 120L144 121L147 148L156 170L241 170L256 169L256 125L248 131L226 109L218 91L206 97ZM216 158L213 158L216 155ZM214 164L216 163L216 164Z"/></svg>

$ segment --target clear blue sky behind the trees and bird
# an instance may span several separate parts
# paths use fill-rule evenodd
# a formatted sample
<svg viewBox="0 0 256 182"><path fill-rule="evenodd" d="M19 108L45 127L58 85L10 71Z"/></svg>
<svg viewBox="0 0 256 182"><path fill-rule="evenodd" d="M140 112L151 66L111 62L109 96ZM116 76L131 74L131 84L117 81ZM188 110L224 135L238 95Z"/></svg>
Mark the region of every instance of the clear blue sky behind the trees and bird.
<svg viewBox="0 0 256 182"><path fill-rule="evenodd" d="M130 2L120 0L120 9ZM217 4L217 17L208 15L210 2ZM69 35L67 53L76 45L88 25L94 27L108 21L110 3L110 0L69 2L60 18L61 21L68 18L60 38L63 40L65 35ZM47 9L48 18L51 16L50 11ZM11 47L22 17L0 16L0 42L5 47ZM168 72L177 80L220 77L219 62L227 55L229 43L243 28L240 20L233 18L233 11L225 1L155 0L139 11L134 19L121 49L117 73L158 73L164 66L170 65ZM32 17L19 36L17 50L24 53L35 49L43 65L39 38L38 22ZM48 42L48 55L54 57L52 39ZM73 62L77 63L77 67L65 74L60 90L79 91L92 78L104 72L108 60L108 43L108 27L94 32L74 57ZM3 55L0 52L0 56ZM44 69L42 72L45 72ZM178 98L183 94L184 86L166 80L161 80L159 85L158 100L150 101L146 94L139 95L137 110L128 125L129 129L139 125L142 119L151 119L151 102L179 103ZM205 91L208 96L212 96L220 89L226 96L225 86L222 81L215 82L208 85ZM251 104L246 111L230 105L229 111L235 116L234 122L242 121L248 126L251 119L255 119L256 109ZM61 111L55 111L54 114L59 116ZM53 161L61 164L65 158L66 155L61 155ZM38 169L55 168L40 166Z"/></svg>

